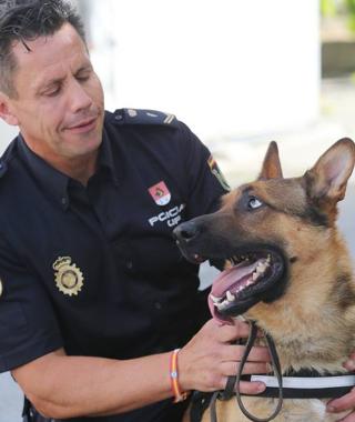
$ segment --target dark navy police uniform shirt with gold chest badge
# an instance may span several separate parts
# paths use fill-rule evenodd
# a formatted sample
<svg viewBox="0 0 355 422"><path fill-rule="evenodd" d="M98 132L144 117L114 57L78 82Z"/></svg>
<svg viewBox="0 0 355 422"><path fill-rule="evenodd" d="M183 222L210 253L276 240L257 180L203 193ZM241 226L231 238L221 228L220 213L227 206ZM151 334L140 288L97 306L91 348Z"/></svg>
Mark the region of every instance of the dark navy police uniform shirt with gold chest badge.
<svg viewBox="0 0 355 422"><path fill-rule="evenodd" d="M0 164L0 371L59 348L130 359L182 346L207 307L172 230L223 193L209 150L173 115L106 112L87 187L17 137ZM171 403L73 421L178 421Z"/></svg>

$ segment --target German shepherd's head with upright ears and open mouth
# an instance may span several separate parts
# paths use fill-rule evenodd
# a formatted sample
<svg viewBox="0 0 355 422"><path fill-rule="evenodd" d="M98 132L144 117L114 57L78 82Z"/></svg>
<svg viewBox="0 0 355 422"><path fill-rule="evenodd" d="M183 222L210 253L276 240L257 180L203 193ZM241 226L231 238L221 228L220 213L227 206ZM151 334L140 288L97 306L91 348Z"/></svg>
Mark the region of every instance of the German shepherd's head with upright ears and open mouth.
<svg viewBox="0 0 355 422"><path fill-rule="evenodd" d="M226 194L220 211L174 230L187 260L226 262L209 298L215 318L229 322L256 304L280 301L296 278L302 294L302 283L310 281L312 271L323 271L316 268L316 257L337 238L336 205L354 164L355 144L342 139L303 177L284 179L272 142L255 182ZM307 265L313 268L311 273Z"/></svg>

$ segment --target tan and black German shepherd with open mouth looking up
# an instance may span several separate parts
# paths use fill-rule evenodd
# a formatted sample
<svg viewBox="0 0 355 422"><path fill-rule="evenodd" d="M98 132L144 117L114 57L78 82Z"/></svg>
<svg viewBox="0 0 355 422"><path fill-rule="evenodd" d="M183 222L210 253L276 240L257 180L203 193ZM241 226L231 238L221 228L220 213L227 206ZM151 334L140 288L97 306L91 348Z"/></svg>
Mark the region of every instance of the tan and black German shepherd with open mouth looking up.
<svg viewBox="0 0 355 422"><path fill-rule="evenodd" d="M284 179L277 144L268 147L258 179L231 191L220 211L175 229L192 262L224 260L209 305L225 323L243 314L270 334L284 375L301 370L343 374L355 349L355 277L336 229L355 165L355 143L342 139L303 177ZM277 399L243 396L257 418L270 416ZM285 399L275 421L336 421L329 399ZM217 403L219 422L248 419L235 400ZM346 412L348 413L348 412ZM203 421L210 421L210 412Z"/></svg>

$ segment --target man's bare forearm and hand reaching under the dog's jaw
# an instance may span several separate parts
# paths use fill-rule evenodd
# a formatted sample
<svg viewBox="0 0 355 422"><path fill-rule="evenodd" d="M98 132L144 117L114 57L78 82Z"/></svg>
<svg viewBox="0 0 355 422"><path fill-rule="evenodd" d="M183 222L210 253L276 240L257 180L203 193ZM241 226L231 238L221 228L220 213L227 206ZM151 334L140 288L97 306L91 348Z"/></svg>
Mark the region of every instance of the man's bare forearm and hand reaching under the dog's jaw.
<svg viewBox="0 0 355 422"><path fill-rule="evenodd" d="M244 346L230 343L247 335L245 323L221 326L209 321L179 353L181 389L224 389L244 351ZM12 374L34 408L48 418L105 416L171 399L170 358L171 352L126 360L73 356L59 349ZM244 373L265 372L267 361L265 348L254 348ZM253 394L263 386L246 382L241 391Z"/></svg>

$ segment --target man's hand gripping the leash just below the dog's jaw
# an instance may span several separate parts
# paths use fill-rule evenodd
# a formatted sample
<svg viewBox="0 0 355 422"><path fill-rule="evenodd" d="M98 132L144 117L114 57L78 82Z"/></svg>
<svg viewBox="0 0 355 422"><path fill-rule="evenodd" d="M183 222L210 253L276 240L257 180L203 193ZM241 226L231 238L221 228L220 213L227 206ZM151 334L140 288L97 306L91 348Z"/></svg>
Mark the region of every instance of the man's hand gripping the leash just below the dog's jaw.
<svg viewBox="0 0 355 422"><path fill-rule="evenodd" d="M224 390L227 376L235 375L245 346L231 344L247 338L248 324L221 325L210 320L179 353L179 381L182 390ZM270 355L264 346L254 346L244 365L244 374L266 373ZM262 382L240 383L240 391L257 394L265 390Z"/></svg>

